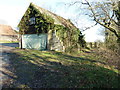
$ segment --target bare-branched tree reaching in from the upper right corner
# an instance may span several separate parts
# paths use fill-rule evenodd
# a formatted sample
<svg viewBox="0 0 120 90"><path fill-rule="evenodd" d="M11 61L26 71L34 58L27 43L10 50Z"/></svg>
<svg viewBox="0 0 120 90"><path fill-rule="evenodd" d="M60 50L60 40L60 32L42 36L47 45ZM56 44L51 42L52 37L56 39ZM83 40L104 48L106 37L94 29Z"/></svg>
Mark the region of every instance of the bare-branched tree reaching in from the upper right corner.
<svg viewBox="0 0 120 90"><path fill-rule="evenodd" d="M88 15L95 25L101 26L112 32L120 41L120 1L119 0L104 0L104 1L89 1L89 0L77 0L70 5L82 4L86 6L88 10L85 15ZM95 26L93 25L93 26ZM91 26L91 27L93 27ZM114 27L115 26L115 27ZM86 29L89 29L87 27Z"/></svg>

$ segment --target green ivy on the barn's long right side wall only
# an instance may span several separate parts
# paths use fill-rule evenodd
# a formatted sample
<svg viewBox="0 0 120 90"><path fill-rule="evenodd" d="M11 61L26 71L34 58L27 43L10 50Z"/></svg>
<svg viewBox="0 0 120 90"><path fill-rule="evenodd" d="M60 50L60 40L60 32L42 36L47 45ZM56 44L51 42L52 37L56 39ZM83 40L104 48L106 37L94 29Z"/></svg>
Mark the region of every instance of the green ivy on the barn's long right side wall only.
<svg viewBox="0 0 120 90"><path fill-rule="evenodd" d="M66 28L62 25L55 25L57 36L63 42L66 47L66 52L72 52L73 49L78 48L78 44L82 47L85 46L85 40L79 29L76 28Z"/></svg>

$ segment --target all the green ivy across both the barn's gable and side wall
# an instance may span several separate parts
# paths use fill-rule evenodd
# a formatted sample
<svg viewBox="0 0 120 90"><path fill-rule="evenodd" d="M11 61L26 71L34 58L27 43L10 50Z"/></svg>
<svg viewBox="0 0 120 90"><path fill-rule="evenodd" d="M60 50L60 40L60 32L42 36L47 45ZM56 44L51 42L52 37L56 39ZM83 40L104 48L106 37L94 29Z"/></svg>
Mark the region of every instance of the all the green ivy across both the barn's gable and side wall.
<svg viewBox="0 0 120 90"><path fill-rule="evenodd" d="M30 25L30 18L35 17L35 24ZM65 48L75 47L77 44L85 46L85 41L80 30L73 27L54 24L54 19L48 15L41 14L32 4L25 12L18 25L20 34L40 34L48 33L49 30L55 31Z"/></svg>

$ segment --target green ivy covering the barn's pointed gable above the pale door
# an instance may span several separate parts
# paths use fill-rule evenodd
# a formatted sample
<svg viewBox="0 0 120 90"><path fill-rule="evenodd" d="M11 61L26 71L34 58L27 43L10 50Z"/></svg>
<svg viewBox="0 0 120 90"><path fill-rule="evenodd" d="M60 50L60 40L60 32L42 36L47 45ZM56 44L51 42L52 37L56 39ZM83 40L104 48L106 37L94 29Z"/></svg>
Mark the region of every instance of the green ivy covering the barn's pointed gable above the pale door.
<svg viewBox="0 0 120 90"><path fill-rule="evenodd" d="M30 18L35 17L35 24L30 25ZM54 20L48 16L41 14L32 4L25 12L18 27L20 28L20 34L40 34L47 33L48 30L53 28ZM30 30L30 29L33 30Z"/></svg>

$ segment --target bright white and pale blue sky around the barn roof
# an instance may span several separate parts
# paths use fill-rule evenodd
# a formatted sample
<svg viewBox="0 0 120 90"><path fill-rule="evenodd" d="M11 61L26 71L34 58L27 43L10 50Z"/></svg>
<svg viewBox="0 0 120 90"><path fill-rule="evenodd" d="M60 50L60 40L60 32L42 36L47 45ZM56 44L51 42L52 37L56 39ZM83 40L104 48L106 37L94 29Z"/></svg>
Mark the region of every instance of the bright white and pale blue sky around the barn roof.
<svg viewBox="0 0 120 90"><path fill-rule="evenodd" d="M85 16L81 15L78 18L77 14L79 13L79 9L75 9L77 5L74 7L65 5L65 3L72 1L74 0L0 0L0 24L7 24L12 26L13 29L16 29L30 2L33 2L59 16L71 19L78 28L92 25ZM77 24L75 21L77 21ZM85 34L85 40L87 42L103 41L104 37L98 35L100 28L101 27L98 25L82 32Z"/></svg>

